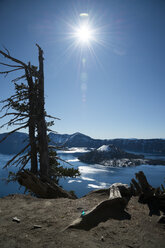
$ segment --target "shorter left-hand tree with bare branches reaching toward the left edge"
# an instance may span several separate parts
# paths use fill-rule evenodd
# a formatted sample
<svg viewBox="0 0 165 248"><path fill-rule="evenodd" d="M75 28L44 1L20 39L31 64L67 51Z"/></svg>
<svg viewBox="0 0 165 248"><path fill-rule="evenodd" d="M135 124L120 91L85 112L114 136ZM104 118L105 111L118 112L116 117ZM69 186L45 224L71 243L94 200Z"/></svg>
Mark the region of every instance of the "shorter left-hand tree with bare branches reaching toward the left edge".
<svg viewBox="0 0 165 248"><path fill-rule="evenodd" d="M25 63L23 63L22 61L13 58L12 56L10 56L9 52L7 51L6 53L3 51L0 51L0 54L3 55L5 58L7 58L9 61L15 62L16 64L11 65L11 64L5 64L5 63L0 63L3 66L6 67L12 67L14 69L12 70L6 70L3 72L0 72L1 74L8 74L11 72L14 72L16 70L23 70L23 75L21 77L17 77L15 78L13 81L13 83L15 84L15 91L16 94L14 94L13 96L11 96L10 98L6 99L5 101L3 101L3 103L5 103L5 105L3 106L2 110L6 110L5 114L1 117L6 117L6 116L14 116L9 122L5 123L3 126L7 125L18 125L19 127L12 130L11 132L9 132L2 140L5 140L10 134L21 130L23 128L27 128L29 127L29 146L30 146L30 152L29 152L29 156L28 159L25 162L25 156L22 156L22 160L19 160L20 158L18 158L18 156L20 156L20 154L22 153L22 151L20 151L16 156L14 156L14 160L10 161L10 164L13 162L13 164L20 162L23 167L27 164L27 162L31 159L31 169L32 171L34 171L34 167L36 167L36 164L34 163L34 161L36 161L36 159L34 159L34 157L37 157L37 154L34 152L34 137L31 135L33 133L33 130L35 129L35 125L32 125L32 106L33 106L33 102L32 102L32 94L33 94L33 80L32 80L32 69L29 65L26 65ZM25 83L17 83L22 79L27 79L27 84ZM14 112L9 112L11 110L14 110ZM26 119L25 125L22 124L22 120ZM16 160L16 158L18 158ZM24 163L23 163L24 161ZM7 165L9 165L9 163L7 163Z"/></svg>

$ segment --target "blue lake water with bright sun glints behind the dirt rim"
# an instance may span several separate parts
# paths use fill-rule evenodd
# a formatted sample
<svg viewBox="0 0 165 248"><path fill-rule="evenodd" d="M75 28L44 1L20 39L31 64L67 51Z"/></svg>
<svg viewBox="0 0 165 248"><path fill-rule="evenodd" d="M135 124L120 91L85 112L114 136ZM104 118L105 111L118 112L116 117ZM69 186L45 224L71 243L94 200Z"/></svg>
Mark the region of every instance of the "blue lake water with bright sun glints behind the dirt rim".
<svg viewBox="0 0 165 248"><path fill-rule="evenodd" d="M81 197L91 190L109 187L115 182L129 184L135 177L135 173L142 170L147 176L148 182L153 187L158 187L164 183L165 166L140 165L137 167L113 168L101 165L88 165L78 161L72 153L60 153L62 159L70 162L74 168L79 168L81 176L77 178L61 179L59 184L66 190L74 190L78 197ZM2 169L5 162L12 156L0 154L0 197L14 193L24 193L24 188L17 182L6 184L3 178L7 178L9 171L15 171L15 168ZM158 157L157 157L158 158ZM64 165L66 166L66 165ZM67 165L67 167L70 165Z"/></svg>

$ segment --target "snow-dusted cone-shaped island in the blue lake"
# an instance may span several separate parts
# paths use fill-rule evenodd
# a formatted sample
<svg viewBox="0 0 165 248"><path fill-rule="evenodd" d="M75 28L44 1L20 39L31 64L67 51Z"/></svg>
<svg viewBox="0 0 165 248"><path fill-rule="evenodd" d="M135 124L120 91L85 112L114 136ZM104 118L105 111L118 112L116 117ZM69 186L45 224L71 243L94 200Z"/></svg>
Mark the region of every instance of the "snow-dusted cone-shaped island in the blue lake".
<svg viewBox="0 0 165 248"><path fill-rule="evenodd" d="M79 160L88 164L101 164L112 167L130 167L141 164L165 165L165 161L146 159L143 155L125 152L110 144L103 145L79 156Z"/></svg>

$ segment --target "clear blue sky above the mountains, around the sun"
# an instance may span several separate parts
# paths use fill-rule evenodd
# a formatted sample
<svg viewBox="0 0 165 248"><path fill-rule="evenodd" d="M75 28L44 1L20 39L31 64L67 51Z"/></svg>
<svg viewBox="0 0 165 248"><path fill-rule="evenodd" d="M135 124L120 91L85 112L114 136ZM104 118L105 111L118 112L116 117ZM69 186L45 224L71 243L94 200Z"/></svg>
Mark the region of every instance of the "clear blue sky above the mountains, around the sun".
<svg viewBox="0 0 165 248"><path fill-rule="evenodd" d="M85 22L87 42L75 34ZM35 43L58 133L165 138L164 0L0 0L0 49L35 65ZM12 77L0 76L0 99Z"/></svg>

